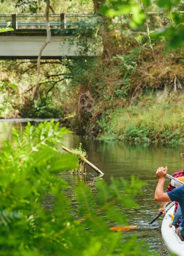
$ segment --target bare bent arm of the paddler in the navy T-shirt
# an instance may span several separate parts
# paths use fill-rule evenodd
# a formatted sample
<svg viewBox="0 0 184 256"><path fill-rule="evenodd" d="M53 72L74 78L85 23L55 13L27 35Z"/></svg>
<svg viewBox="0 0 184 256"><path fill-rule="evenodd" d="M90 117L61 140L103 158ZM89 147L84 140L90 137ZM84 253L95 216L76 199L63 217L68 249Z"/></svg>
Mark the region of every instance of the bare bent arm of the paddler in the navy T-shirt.
<svg viewBox="0 0 184 256"><path fill-rule="evenodd" d="M159 167L156 172L156 177L158 178L158 184L155 189L154 200L159 203L171 202L171 199L169 198L168 194L164 192L164 183L165 183L167 172L168 172L167 167L165 168L165 170L164 170L164 167Z"/></svg>

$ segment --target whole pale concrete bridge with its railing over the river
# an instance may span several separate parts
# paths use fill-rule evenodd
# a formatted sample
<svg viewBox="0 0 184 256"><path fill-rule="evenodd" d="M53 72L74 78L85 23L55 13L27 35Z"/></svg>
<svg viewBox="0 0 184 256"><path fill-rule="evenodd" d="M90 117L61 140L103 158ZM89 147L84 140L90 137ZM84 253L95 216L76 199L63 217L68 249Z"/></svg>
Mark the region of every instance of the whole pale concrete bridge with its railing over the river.
<svg viewBox="0 0 184 256"><path fill-rule="evenodd" d="M94 14L50 14L51 42L42 52L42 58L60 58L62 56L95 56L102 51L99 36L87 39L87 51L77 37L76 31L93 28L98 17ZM0 33L0 59L37 58L39 50L46 39L44 14L0 14L0 27L10 27L14 31ZM85 39L86 40L86 39ZM86 42L86 41L85 41Z"/></svg>

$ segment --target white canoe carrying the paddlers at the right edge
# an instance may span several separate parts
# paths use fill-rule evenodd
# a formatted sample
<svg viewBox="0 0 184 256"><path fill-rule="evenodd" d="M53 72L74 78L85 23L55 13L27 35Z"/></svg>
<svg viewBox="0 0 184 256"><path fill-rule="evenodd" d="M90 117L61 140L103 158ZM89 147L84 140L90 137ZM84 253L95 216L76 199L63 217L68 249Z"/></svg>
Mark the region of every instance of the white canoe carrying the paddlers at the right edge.
<svg viewBox="0 0 184 256"><path fill-rule="evenodd" d="M179 256L184 256L184 242L182 242L175 233L175 227L169 227L169 223L171 222L169 214L173 215L173 211L174 206L172 206L171 209L168 210L167 214L164 217L161 227L162 237L169 251Z"/></svg>

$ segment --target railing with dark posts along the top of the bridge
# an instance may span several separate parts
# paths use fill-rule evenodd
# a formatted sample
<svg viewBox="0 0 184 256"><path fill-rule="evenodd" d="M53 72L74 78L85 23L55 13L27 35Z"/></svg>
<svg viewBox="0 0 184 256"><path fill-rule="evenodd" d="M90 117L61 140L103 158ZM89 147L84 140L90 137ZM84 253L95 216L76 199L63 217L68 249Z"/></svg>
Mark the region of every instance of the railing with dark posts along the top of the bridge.
<svg viewBox="0 0 184 256"><path fill-rule="evenodd" d="M83 13L59 13L49 14L51 29L77 29L83 25L93 26L98 16ZM16 29L45 29L44 13L12 13L0 14L0 27L6 27L10 22L10 27Z"/></svg>

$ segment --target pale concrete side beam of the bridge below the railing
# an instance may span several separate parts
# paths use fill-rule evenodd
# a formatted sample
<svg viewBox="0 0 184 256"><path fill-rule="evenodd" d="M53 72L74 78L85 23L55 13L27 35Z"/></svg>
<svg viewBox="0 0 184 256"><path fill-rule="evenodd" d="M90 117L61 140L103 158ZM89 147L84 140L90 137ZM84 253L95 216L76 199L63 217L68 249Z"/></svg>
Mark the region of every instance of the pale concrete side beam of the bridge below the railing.
<svg viewBox="0 0 184 256"><path fill-rule="evenodd" d="M45 42L45 35L11 35L0 36L0 59L35 59ZM51 42L42 51L42 58L53 59L63 56L97 56L102 47L98 40L87 40L87 51L81 40L73 36L52 36Z"/></svg>

